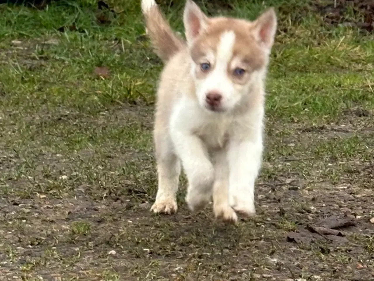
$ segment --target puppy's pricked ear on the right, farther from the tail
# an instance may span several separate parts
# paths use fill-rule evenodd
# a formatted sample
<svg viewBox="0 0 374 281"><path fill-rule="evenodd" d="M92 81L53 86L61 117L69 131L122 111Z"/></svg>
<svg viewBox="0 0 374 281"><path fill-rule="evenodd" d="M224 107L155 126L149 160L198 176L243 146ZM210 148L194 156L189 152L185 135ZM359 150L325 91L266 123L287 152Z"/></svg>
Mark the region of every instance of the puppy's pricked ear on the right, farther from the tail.
<svg viewBox="0 0 374 281"><path fill-rule="evenodd" d="M269 52L274 43L276 29L277 16L273 7L267 9L254 22L255 36Z"/></svg>

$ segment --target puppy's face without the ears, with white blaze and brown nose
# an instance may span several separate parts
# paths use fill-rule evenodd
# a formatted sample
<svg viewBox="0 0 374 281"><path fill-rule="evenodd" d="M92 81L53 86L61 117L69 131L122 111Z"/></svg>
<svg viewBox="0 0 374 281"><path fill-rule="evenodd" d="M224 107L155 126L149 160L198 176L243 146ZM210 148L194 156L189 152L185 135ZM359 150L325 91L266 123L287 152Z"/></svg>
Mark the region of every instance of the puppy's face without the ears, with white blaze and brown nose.
<svg viewBox="0 0 374 281"><path fill-rule="evenodd" d="M196 97L211 111L233 110L265 67L265 54L251 34L231 27L229 20L218 20L191 46Z"/></svg>

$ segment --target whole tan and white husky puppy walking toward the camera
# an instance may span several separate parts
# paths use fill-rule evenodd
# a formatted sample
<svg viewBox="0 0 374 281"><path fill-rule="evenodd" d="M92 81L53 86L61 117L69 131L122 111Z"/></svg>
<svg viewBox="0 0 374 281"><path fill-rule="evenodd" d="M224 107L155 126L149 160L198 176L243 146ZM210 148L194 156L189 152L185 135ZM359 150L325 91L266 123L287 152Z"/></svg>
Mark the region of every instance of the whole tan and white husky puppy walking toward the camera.
<svg viewBox="0 0 374 281"><path fill-rule="evenodd" d="M177 211L182 166L192 211L212 199L215 217L226 223L236 223L237 214L254 215L274 9L255 21L208 17L187 0L184 40L154 0L142 0L141 6L154 52L165 64L157 90L158 190L151 210Z"/></svg>

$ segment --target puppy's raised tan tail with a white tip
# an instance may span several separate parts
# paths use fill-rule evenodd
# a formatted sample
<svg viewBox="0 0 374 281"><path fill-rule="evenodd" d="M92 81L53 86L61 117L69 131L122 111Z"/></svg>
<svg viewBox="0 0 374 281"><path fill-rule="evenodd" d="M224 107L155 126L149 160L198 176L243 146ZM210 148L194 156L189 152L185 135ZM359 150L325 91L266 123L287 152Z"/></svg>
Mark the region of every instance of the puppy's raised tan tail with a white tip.
<svg viewBox="0 0 374 281"><path fill-rule="evenodd" d="M165 63L184 47L184 40L171 30L155 0L141 0L141 9L154 52Z"/></svg>

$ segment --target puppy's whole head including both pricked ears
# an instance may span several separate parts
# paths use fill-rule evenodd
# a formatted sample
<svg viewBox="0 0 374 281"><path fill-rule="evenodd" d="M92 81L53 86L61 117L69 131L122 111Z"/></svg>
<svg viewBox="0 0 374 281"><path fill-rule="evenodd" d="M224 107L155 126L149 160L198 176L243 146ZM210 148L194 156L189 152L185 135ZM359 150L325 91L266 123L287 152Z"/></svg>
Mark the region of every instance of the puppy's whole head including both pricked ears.
<svg viewBox="0 0 374 281"><path fill-rule="evenodd" d="M265 23L208 18L187 0L184 22L200 106L214 112L232 111L250 94L251 85L263 79L275 33L272 12L262 20Z"/></svg>

